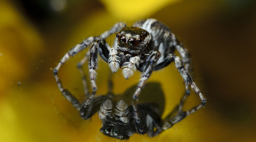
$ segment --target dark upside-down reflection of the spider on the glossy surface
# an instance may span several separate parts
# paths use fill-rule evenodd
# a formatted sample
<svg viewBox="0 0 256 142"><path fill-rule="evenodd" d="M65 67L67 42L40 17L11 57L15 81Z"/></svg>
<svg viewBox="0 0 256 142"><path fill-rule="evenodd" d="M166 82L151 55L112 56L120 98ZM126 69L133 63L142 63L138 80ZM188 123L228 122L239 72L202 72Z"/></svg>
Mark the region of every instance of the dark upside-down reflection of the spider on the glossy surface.
<svg viewBox="0 0 256 142"><path fill-rule="evenodd" d="M188 95L185 94L181 98L180 104L162 120L165 100L159 83L148 83L141 93L140 101L143 103L136 104L136 106L129 99L130 91L136 86L127 89L123 95L114 95L111 80L108 84L107 95L95 97L95 92L90 95L86 94L87 98L82 104L70 93L68 93L67 99L79 110L81 117L85 120L90 119L98 111L98 116L103 122L100 131L109 137L127 140L134 133L148 134L149 137L154 137L202 106L200 104L189 111L183 111L183 105ZM86 85L85 89L87 90ZM158 94L158 98L155 98L155 94Z"/></svg>

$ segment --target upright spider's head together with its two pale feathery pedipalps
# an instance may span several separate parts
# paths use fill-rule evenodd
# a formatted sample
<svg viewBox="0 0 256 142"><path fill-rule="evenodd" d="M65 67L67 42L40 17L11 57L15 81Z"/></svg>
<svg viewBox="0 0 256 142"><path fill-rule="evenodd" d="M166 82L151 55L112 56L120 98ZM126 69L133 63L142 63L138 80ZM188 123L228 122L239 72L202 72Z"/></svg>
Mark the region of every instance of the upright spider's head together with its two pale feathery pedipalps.
<svg viewBox="0 0 256 142"><path fill-rule="evenodd" d="M108 64L112 72L123 69L124 78L128 79L146 59L151 43L151 34L138 27L123 27L116 34L117 40L110 50Z"/></svg>

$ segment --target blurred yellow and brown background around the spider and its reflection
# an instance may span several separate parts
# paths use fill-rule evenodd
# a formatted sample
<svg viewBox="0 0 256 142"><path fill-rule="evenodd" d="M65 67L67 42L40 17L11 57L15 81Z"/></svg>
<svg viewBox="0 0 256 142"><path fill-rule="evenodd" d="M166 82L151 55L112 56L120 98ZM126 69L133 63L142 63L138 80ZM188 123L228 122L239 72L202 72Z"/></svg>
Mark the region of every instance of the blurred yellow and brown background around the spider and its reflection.
<svg viewBox="0 0 256 142"><path fill-rule="evenodd" d="M97 115L91 121L79 117L57 88L52 69L85 37L118 21L131 25L145 18L164 22L190 50L194 80L208 102L156 137L134 134L128 141L256 141L254 0L2 0L0 17L0 141L120 141L100 133ZM81 101L76 63L84 54L59 72ZM100 60L98 94L107 92L106 70ZM125 80L115 73L114 92L135 85L139 75ZM171 64L154 72L152 81L161 83L167 115L180 101L183 80ZM186 103L185 108L197 105L199 98L192 93Z"/></svg>

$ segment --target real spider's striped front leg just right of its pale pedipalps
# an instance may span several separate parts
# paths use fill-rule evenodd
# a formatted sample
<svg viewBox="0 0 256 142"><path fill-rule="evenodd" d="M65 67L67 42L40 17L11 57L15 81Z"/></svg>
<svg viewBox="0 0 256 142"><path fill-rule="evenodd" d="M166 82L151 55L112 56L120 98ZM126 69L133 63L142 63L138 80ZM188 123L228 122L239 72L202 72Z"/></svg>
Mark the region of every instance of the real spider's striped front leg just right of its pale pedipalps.
<svg viewBox="0 0 256 142"><path fill-rule="evenodd" d="M133 99L138 100L139 94L143 86L145 85L146 81L148 80L149 76L151 76L151 73L154 69L155 63L158 61L161 53L157 50L153 50L148 58L145 61L145 65L143 66L143 72L142 72L142 78L140 78L140 81L137 85L137 89L135 93L133 94Z"/></svg>

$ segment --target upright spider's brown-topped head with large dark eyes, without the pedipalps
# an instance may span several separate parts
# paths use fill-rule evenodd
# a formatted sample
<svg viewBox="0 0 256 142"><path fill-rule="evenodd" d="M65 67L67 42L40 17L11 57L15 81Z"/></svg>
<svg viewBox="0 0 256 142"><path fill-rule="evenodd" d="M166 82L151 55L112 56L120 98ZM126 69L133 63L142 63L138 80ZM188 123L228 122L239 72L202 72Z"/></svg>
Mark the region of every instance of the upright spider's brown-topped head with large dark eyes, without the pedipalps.
<svg viewBox="0 0 256 142"><path fill-rule="evenodd" d="M144 51L151 41L151 34L138 27L124 27L116 37L120 51Z"/></svg>

